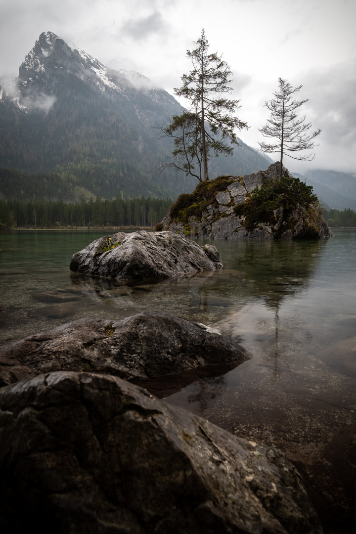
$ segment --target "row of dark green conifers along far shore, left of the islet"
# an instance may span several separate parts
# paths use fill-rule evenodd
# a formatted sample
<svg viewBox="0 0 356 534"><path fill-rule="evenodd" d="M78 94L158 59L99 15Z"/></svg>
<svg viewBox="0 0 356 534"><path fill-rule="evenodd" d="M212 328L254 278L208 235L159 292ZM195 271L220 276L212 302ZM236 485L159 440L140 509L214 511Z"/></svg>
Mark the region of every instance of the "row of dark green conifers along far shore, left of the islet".
<svg viewBox="0 0 356 534"><path fill-rule="evenodd" d="M0 199L0 229L16 227L60 228L98 226L155 226L172 205L170 199L90 199L64 203L62 200Z"/></svg>

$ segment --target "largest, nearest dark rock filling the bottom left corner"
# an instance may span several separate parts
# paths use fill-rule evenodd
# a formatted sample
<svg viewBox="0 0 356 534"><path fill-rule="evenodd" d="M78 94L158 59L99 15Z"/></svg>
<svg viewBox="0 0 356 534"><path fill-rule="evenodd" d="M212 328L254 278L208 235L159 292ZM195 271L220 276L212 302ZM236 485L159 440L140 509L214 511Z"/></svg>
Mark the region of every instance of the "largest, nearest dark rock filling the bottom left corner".
<svg viewBox="0 0 356 534"><path fill-rule="evenodd" d="M22 534L319 533L294 467L113 376L0 390L0 527Z"/></svg>

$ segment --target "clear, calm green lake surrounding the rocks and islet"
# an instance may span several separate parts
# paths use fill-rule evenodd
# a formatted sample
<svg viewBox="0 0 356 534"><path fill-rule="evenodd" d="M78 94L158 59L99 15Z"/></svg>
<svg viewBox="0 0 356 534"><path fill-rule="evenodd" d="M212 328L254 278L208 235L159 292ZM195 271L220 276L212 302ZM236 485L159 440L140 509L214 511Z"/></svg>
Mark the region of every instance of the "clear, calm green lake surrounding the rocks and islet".
<svg viewBox="0 0 356 534"><path fill-rule="evenodd" d="M0 233L0 343L80 317L120 319L149 310L238 337L254 355L249 362L167 401L280 447L325 530L353 532L356 230L315 241L215 240L224 269L121 286L69 271L72 255L104 232Z"/></svg>

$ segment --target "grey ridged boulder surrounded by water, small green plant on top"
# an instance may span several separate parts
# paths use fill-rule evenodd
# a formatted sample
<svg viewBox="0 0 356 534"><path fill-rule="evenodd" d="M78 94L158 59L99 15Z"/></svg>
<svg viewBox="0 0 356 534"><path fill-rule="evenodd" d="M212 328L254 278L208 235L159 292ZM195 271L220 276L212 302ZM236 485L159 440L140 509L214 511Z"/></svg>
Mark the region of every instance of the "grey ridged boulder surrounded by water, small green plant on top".
<svg viewBox="0 0 356 534"><path fill-rule="evenodd" d="M117 245L118 244L118 245ZM102 252L107 246L113 247ZM70 270L123 281L191 276L223 266L215 247L200 247L171 232L118 232L77 252Z"/></svg>

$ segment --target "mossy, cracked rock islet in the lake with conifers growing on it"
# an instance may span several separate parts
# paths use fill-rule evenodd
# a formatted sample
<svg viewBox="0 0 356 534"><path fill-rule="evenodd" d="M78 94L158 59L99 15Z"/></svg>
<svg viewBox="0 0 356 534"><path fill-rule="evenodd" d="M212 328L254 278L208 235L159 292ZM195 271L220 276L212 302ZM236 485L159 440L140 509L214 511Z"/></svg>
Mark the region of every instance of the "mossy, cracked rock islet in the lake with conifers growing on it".
<svg viewBox="0 0 356 534"><path fill-rule="evenodd" d="M221 176L180 195L160 228L210 239L296 239L331 237L311 188L289 174L279 184L280 163L247 176ZM268 180L276 185L267 190ZM265 193L257 200L256 187ZM189 199L190 197L190 199ZM252 204L254 205L253 209Z"/></svg>

